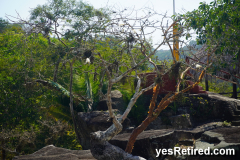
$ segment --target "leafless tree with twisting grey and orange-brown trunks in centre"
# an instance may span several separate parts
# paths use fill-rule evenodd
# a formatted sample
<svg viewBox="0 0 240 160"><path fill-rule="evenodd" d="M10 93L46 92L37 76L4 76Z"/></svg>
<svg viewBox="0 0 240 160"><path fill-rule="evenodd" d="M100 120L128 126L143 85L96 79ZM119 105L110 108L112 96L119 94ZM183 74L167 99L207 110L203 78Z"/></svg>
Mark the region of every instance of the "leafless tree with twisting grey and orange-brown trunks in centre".
<svg viewBox="0 0 240 160"><path fill-rule="evenodd" d="M171 34L171 26L170 25L167 29L163 29L163 19L166 18L165 15L162 16L161 22L155 22L151 21L151 17L156 16L158 14L153 12L147 12L143 18L129 18L128 14L125 16L122 14L117 14L111 22L106 26L106 30L104 31L104 36L106 35L113 35L116 36L117 40L119 40L119 43L123 44L123 47L125 46L125 49L127 50L128 54L125 54L125 56L128 56L131 62L127 64L127 70L123 73L120 73L119 75L114 75L111 73L111 70L109 70L109 66L112 65L111 62L108 60L105 60L103 56L98 53L95 56L95 59L99 59L99 62L102 63L102 66L105 66L105 72L106 76L108 77L108 89L107 89L107 106L109 111L109 118L112 119L113 124L106 130L106 131L98 131L91 134L91 152L95 158L98 160L105 160L105 159L114 159L114 160L140 160L144 159L142 157L138 156L132 156L130 153L132 151L134 142L137 138L137 136L147 128L147 126L154 121L158 115L161 113L162 110L164 110L171 102L174 101L176 96L180 93L184 93L188 91L189 89L195 87L203 78L203 75L205 73L205 69L202 70L201 75L197 82L195 82L193 85L188 86L187 88L179 91L180 82L184 77L184 73L190 68L184 70L184 72L181 74L181 77L179 77L178 86L176 89L176 92L167 94L162 101L158 104L158 106L155 108L155 101L157 98L157 93L160 89L161 81L158 79L163 76L161 74L156 66L156 63L154 63L151 60L151 57L156 53L157 49L159 49L162 45L165 43L168 43L168 40L172 38ZM173 22L175 23L175 22ZM140 29L136 31L135 26L139 25ZM157 25L160 25L161 27L158 28ZM149 43L147 39L148 34L152 34L153 31L150 31L147 33L147 29L149 26L153 26L155 30L161 29L164 34L164 39L161 43L159 43L156 47L153 47L151 43ZM103 37L104 38L104 37ZM143 59L137 59L137 55L132 52L133 48L136 47L139 50L139 53L144 56ZM121 57L121 56L119 56ZM120 66L126 65L124 62L122 62L120 59L118 59L118 64ZM141 88L141 79L138 76L139 72L139 66L143 63L148 62L149 64L152 64L156 70L157 78L156 81L151 84L150 86L146 88ZM169 69L169 72L175 71L175 69L179 67L179 63L175 63L175 65L172 65L172 67ZM117 119L116 116L113 113L112 110L112 103L111 103L111 90L112 86L119 82L121 79L123 79L126 76L131 76L130 73L135 72L135 78L137 79L137 85L135 88L135 94L131 98L130 102L128 103L127 109L121 116L121 118ZM165 74L168 74L165 73ZM180 75L180 74L179 74ZM140 95L142 95L144 92L153 89L154 94L151 100L151 104L149 106L149 112L148 117L143 121L143 123L138 126L133 133L130 136L128 145L126 147L126 150L123 151L122 149L111 145L108 143L109 140L111 140L114 136L116 136L119 132L122 130L122 123L127 118L129 112L131 111L132 107L136 103L137 99Z"/></svg>

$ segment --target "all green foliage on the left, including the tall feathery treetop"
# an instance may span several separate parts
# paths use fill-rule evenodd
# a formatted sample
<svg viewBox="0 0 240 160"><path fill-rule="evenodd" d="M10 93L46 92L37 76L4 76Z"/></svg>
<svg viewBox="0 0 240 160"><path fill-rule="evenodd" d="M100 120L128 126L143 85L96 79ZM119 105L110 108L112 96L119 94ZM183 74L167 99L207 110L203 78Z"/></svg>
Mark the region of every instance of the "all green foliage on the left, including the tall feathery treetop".
<svg viewBox="0 0 240 160"><path fill-rule="evenodd" d="M106 93L109 80L100 57L94 56L86 64L85 51L100 53L112 64L108 68L111 77L132 65L125 42L114 37L104 37L104 41L99 38L103 38L101 29L108 20L107 10L94 9L82 1L51 0L31 10L28 22L32 33L0 21L0 145L20 154L32 153L47 144L81 149L69 112L69 61L73 62L75 111L87 110L87 102L75 102L78 97L92 99L96 105L98 91ZM60 30L55 30L59 24L61 36L56 34ZM132 53L138 63L144 56L137 47ZM148 71L147 66L143 63L139 71ZM125 100L134 92L132 75L135 73L127 77L130 83L113 86L120 88ZM131 114L136 114L140 122L148 109L141 102L135 107Z"/></svg>

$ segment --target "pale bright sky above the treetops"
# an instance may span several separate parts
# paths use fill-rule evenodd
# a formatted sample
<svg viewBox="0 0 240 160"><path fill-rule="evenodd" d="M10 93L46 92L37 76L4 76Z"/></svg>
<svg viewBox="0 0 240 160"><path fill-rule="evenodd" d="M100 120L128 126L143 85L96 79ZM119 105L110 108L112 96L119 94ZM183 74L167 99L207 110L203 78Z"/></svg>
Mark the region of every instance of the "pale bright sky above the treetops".
<svg viewBox="0 0 240 160"><path fill-rule="evenodd" d="M200 2L204 0L175 0L175 12L185 13L187 11L192 11L197 9ZM214 0L205 0L207 4ZM6 19L6 15L11 15L13 17L21 17L21 19L28 20L30 17L30 10L37 7L37 5L46 4L48 0L0 0L0 17ZM83 0L94 8L104 8L108 7L113 10L123 10L128 9L141 9L141 8L151 8L158 13L165 14L168 16L173 15L173 0ZM10 18L10 17L9 17ZM13 19L13 18L11 18ZM156 37L159 37L159 34ZM152 37L156 44L161 41ZM163 48L166 49L166 48Z"/></svg>

